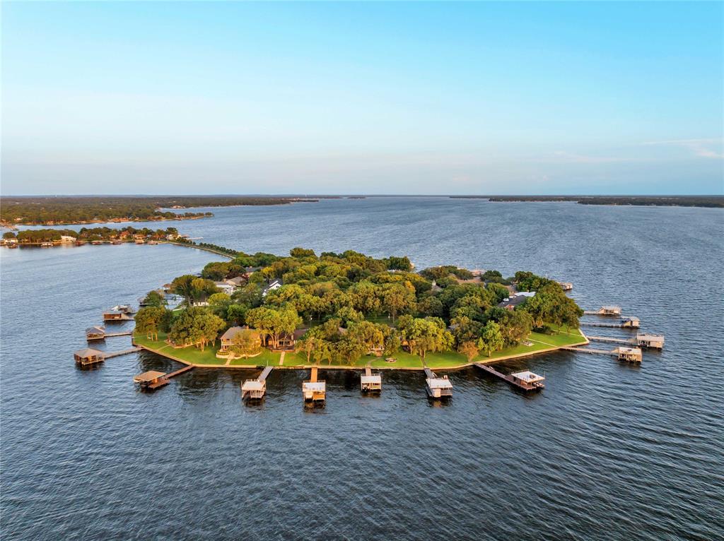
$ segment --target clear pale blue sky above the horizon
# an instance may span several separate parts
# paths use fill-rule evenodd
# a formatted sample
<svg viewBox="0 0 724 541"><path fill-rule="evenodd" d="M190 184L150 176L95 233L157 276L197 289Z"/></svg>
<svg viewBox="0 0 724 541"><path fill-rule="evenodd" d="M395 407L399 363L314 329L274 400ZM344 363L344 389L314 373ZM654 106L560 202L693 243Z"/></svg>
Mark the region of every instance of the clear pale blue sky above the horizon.
<svg viewBox="0 0 724 541"><path fill-rule="evenodd" d="M723 4L2 6L4 195L723 193Z"/></svg>

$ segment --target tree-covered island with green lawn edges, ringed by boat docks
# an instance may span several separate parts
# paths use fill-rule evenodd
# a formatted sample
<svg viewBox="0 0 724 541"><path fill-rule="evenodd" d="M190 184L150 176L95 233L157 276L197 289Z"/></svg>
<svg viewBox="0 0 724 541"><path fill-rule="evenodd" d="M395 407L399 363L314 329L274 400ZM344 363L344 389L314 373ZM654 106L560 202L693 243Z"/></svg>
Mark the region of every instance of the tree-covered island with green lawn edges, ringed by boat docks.
<svg viewBox="0 0 724 541"><path fill-rule="evenodd" d="M446 265L416 273L408 257L294 248L286 257L235 252L201 276L174 278L169 289L182 305L169 310L151 292L136 315L136 340L155 350L173 346L174 355L189 350L190 362L201 364L219 362L216 339L230 328L250 328L258 345L287 351L290 366L359 366L372 354L399 367L452 367L585 341L581 308L557 282L529 272L473 276ZM515 291L529 293L511 308ZM247 338L228 351L243 357Z"/></svg>

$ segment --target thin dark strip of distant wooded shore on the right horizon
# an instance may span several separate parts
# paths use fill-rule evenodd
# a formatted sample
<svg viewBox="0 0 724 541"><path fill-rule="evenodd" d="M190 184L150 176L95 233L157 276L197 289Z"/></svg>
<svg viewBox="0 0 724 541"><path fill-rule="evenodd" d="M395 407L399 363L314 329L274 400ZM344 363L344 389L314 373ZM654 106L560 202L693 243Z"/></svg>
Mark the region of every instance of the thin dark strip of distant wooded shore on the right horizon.
<svg viewBox="0 0 724 541"><path fill-rule="evenodd" d="M451 199L487 199L492 202L571 201L581 205L653 205L664 207L724 207L724 195L451 195Z"/></svg>

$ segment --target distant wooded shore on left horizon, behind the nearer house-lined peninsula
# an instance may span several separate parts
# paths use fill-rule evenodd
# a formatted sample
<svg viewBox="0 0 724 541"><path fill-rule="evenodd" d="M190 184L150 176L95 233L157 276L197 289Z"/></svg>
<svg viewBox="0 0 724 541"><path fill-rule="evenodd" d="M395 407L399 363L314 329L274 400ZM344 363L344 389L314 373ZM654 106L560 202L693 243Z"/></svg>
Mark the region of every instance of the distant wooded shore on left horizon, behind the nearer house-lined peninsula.
<svg viewBox="0 0 724 541"><path fill-rule="evenodd" d="M1 197L0 223L5 225L62 225L102 221L183 220L213 216L174 213L161 208L220 207L232 205L285 205L316 200L295 197Z"/></svg>

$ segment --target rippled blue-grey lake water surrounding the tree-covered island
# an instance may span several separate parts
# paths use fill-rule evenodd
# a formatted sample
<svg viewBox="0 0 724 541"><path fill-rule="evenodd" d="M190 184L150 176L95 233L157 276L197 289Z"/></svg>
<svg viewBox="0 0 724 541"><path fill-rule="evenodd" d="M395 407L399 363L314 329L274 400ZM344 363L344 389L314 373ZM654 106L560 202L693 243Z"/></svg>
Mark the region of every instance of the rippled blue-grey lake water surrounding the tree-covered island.
<svg viewBox="0 0 724 541"><path fill-rule="evenodd" d="M418 372L384 372L372 398L357 375L323 371L327 404L311 410L302 371L272 372L259 406L240 400L253 370L195 369L141 393L132 375L177 365L143 353L79 370L85 327L220 258L170 245L3 249L4 539L724 537L722 210L445 197L211 210L162 226L245 252L533 270L572 281L582 307L620 304L666 347L640 367L571 352L502 365L544 372L533 396L450 372L445 405L426 399Z"/></svg>

